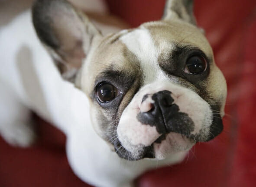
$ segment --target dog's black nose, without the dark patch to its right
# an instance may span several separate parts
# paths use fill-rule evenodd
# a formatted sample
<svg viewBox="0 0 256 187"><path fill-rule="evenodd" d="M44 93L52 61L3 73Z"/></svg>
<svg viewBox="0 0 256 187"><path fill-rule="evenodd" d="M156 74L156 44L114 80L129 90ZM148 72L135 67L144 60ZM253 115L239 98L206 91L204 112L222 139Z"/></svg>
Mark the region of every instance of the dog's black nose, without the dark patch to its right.
<svg viewBox="0 0 256 187"><path fill-rule="evenodd" d="M173 104L174 99L171 96L170 91L164 90L152 95L152 108L150 111L141 112L137 118L143 124L149 124L150 126L156 126L156 130L161 133L168 133L169 128L166 126L166 119L170 115L178 113L179 108Z"/></svg>

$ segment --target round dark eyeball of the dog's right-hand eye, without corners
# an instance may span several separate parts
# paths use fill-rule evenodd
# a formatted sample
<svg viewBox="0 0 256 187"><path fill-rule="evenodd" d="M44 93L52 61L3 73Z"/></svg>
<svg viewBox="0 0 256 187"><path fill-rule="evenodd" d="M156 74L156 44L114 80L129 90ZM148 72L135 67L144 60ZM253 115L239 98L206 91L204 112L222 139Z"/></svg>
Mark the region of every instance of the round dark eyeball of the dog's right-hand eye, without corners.
<svg viewBox="0 0 256 187"><path fill-rule="evenodd" d="M202 73L205 70L205 62L202 58L195 56L188 59L187 66L190 73Z"/></svg>

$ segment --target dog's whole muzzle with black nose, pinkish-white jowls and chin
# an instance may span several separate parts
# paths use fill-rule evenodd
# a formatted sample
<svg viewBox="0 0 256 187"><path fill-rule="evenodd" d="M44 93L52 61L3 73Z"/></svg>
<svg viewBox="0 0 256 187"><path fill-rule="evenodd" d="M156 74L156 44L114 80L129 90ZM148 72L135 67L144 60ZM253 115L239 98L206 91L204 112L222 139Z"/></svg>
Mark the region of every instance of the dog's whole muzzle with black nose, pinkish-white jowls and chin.
<svg viewBox="0 0 256 187"><path fill-rule="evenodd" d="M195 97L198 100L187 95L177 98L163 90L143 97L140 110L126 108L113 143L117 155L130 161L165 159L217 136L222 130L218 127L222 127L221 117L214 115L216 110L206 101ZM137 107L137 103L134 100L129 105Z"/></svg>

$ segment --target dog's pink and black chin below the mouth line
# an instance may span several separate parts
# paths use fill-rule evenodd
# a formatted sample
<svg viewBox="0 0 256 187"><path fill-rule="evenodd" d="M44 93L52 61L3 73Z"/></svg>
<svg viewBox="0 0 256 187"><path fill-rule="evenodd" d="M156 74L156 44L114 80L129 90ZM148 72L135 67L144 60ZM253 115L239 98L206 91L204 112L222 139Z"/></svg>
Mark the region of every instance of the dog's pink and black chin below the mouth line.
<svg viewBox="0 0 256 187"><path fill-rule="evenodd" d="M133 146L130 150L126 149L119 139L116 139L114 148L117 155L129 161L143 158L162 160L177 155L179 152L189 151L195 143L193 138L171 132L160 136L150 146Z"/></svg>

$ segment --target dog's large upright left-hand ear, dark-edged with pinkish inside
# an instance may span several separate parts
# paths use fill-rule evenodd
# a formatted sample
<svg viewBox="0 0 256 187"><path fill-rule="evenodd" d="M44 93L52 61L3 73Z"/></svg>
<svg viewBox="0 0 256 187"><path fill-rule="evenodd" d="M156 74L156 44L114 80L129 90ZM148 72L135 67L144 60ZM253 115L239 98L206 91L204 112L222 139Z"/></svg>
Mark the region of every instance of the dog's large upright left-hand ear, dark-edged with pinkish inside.
<svg viewBox="0 0 256 187"><path fill-rule="evenodd" d="M74 82L92 41L101 33L65 0L36 0L32 21L62 77Z"/></svg>

